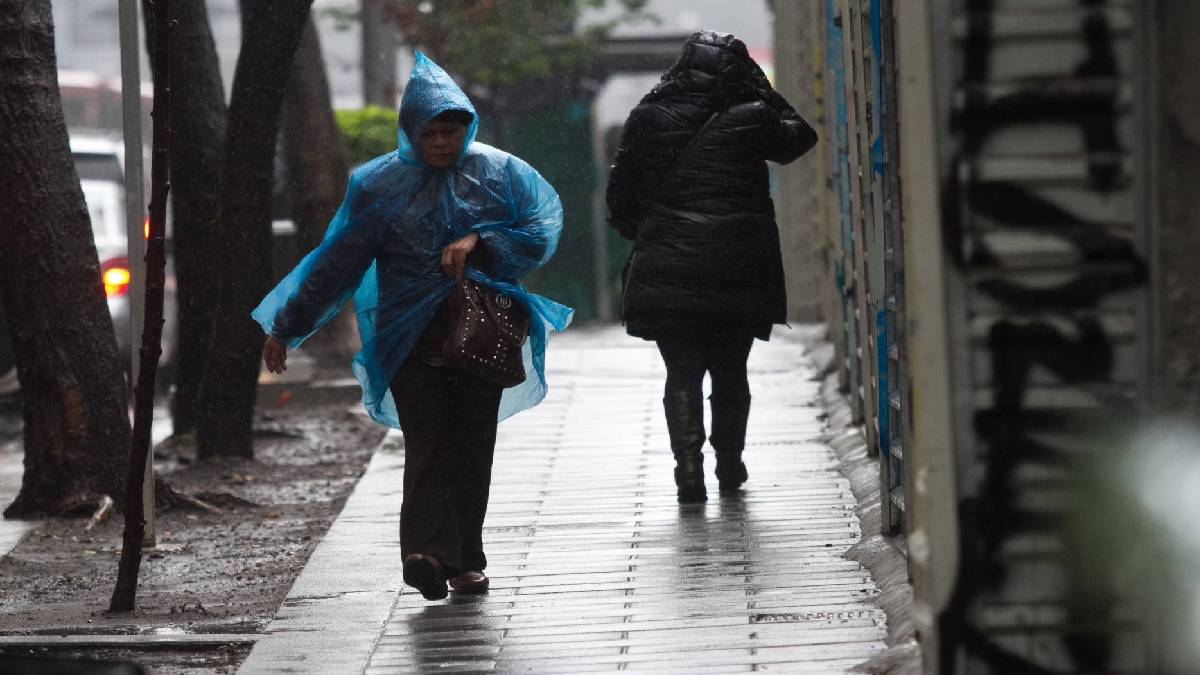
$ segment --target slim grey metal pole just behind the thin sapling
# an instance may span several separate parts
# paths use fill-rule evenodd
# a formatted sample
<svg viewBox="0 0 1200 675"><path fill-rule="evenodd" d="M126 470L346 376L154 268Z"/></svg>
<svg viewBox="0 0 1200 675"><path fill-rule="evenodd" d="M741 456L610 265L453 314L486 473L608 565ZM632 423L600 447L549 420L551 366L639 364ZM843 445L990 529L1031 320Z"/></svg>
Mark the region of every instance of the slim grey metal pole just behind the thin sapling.
<svg viewBox="0 0 1200 675"><path fill-rule="evenodd" d="M137 0L120 0L119 20L121 35L121 112L125 127L125 226L130 264L130 331L131 345L139 345L145 298L145 197L142 171L142 73L140 36L138 32ZM138 378L138 352L132 351L132 380ZM142 490L145 513L143 546L152 548L155 539L154 515L154 461L146 462L145 484Z"/></svg>

